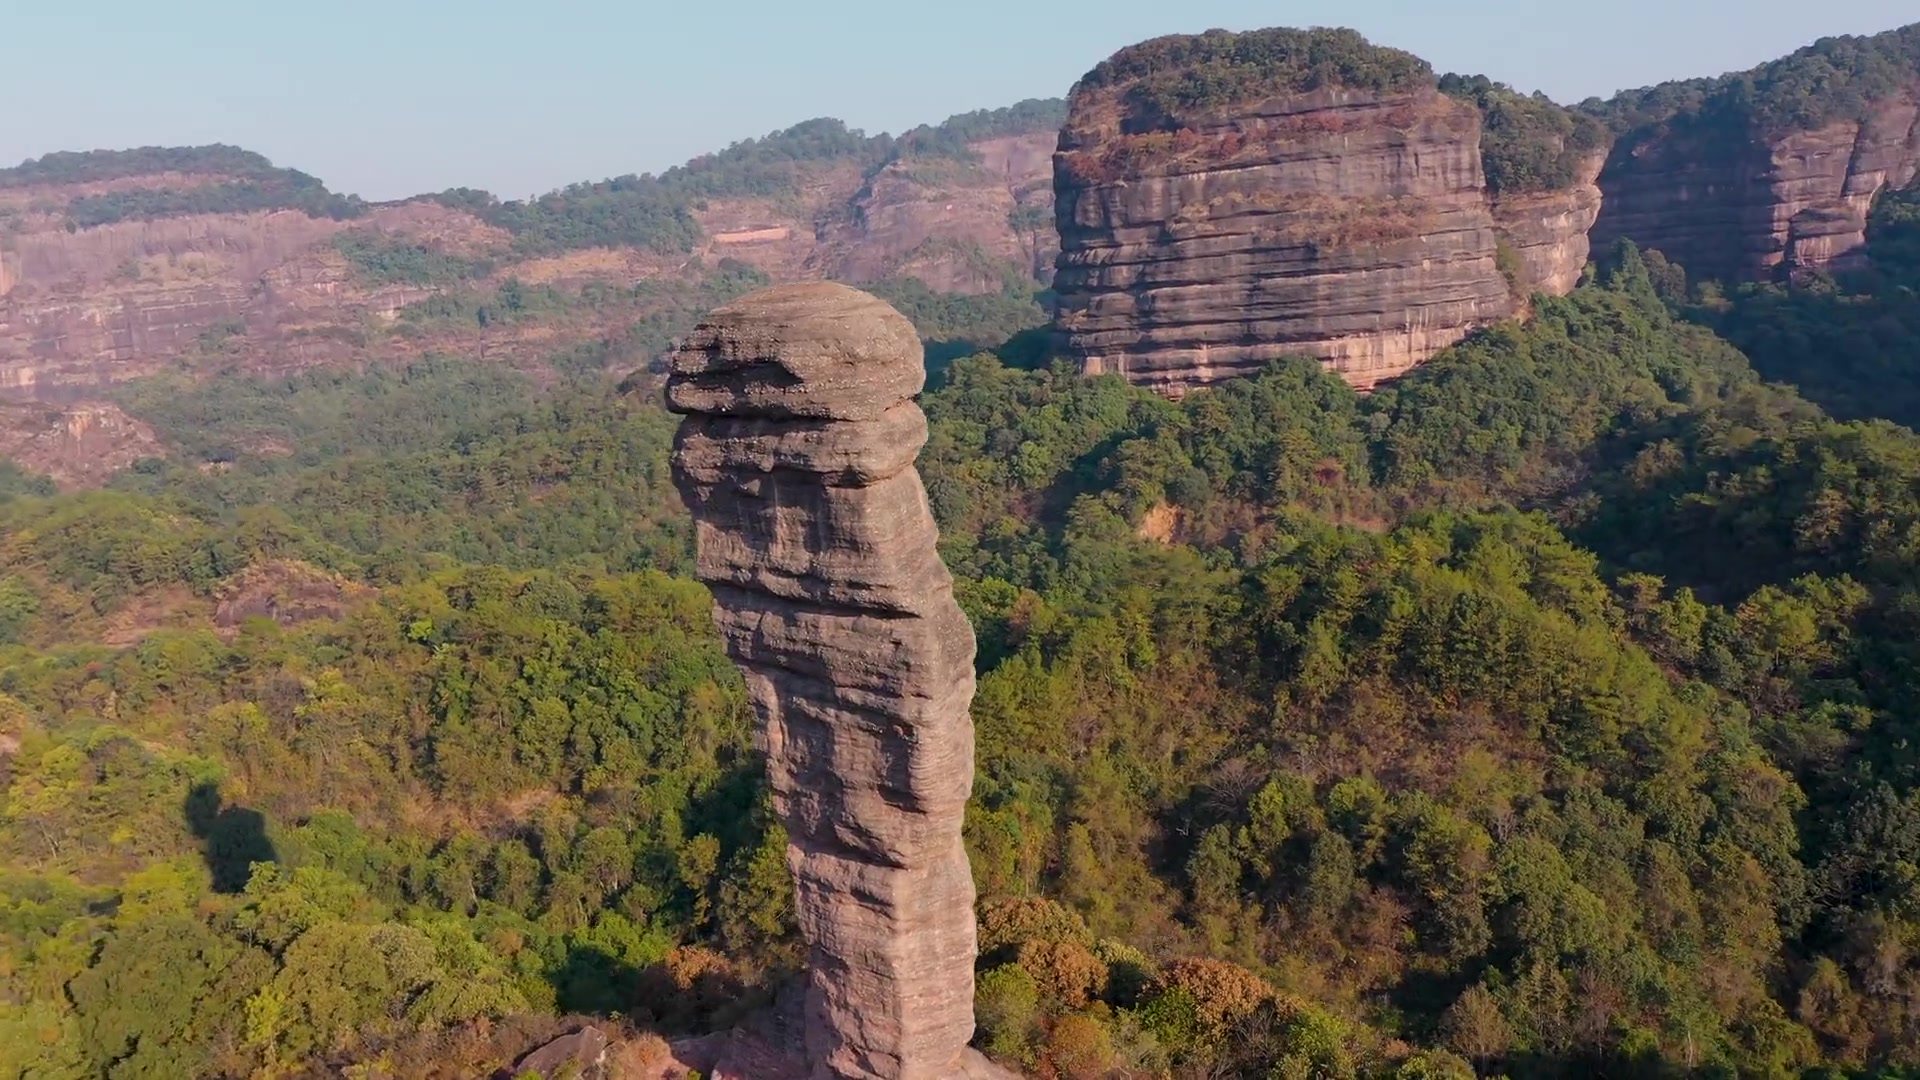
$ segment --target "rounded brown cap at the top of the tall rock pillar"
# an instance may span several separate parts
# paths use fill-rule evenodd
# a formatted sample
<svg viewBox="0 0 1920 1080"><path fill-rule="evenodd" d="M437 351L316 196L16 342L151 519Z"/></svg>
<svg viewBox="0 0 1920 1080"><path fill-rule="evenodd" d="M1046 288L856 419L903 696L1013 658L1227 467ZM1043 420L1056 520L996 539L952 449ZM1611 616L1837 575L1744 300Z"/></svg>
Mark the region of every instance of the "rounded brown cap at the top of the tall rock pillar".
<svg viewBox="0 0 1920 1080"><path fill-rule="evenodd" d="M927 380L920 334L887 302L829 281L716 307L674 354L676 413L868 421Z"/></svg>

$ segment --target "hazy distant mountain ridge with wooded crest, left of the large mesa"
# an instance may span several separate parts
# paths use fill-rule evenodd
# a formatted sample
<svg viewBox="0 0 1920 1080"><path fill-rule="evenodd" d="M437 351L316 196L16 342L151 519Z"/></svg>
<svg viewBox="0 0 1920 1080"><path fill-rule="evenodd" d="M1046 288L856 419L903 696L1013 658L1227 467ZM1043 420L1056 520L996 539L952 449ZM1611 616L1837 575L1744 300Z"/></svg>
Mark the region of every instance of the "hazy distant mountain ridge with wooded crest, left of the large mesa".
<svg viewBox="0 0 1920 1080"><path fill-rule="evenodd" d="M814 119L528 202L374 204L234 146L48 154L0 169L0 392L426 352L538 367L595 342L643 363L728 273L918 282L1037 321L1062 117L1033 100L899 136Z"/></svg>

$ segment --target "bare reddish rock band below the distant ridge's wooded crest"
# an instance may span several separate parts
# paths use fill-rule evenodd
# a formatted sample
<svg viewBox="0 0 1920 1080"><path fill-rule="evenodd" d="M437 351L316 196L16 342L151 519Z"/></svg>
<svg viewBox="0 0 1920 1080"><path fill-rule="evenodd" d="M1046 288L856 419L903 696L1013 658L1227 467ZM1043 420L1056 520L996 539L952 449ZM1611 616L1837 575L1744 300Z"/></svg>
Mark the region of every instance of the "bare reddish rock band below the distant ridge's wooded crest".
<svg viewBox="0 0 1920 1080"><path fill-rule="evenodd" d="M1052 142L1052 133L991 138L973 144L973 161L897 161L872 183L858 163L822 163L797 196L701 204L695 217L707 234L703 246L672 258L593 250L515 259L507 233L428 200L382 206L353 221L263 211L79 231L67 231L60 209L84 194L198 186L221 177L157 173L0 190L0 394L77 400L102 384L182 363L286 373L426 348L488 357L505 352L538 363L564 344L616 332L643 315L609 311L601 323L588 315L534 342L468 327L461 340L388 340L372 348L369 338L378 334L369 331L438 290L359 281L332 248L348 229L380 229L449 254L492 258L495 279L564 286L699 277L722 259L737 259L776 281L914 275L935 290L998 292L1008 267L1050 273ZM1020 208L1029 211L1016 217ZM225 338L234 327L242 332L219 356L200 356L209 331Z"/></svg>

